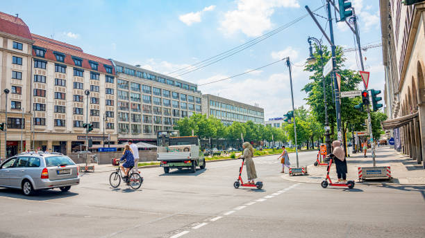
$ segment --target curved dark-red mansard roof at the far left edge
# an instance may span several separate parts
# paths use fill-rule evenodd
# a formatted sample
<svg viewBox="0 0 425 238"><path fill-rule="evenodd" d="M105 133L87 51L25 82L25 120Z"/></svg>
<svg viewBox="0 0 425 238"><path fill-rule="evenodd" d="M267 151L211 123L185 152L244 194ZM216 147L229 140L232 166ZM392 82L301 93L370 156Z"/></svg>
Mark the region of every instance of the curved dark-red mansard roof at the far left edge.
<svg viewBox="0 0 425 238"><path fill-rule="evenodd" d="M22 19L13 17L4 12L0 12L0 31L26 39L32 39L30 30Z"/></svg>

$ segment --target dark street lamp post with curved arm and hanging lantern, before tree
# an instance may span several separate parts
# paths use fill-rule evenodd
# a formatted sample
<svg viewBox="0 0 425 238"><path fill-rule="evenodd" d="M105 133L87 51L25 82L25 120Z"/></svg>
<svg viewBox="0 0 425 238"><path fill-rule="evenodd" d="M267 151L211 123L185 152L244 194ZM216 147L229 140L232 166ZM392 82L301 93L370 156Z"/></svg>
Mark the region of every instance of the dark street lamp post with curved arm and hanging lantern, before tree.
<svg viewBox="0 0 425 238"><path fill-rule="evenodd" d="M315 41L315 43L319 46L319 54L320 54L320 67L322 68L323 72L323 51L322 51L322 43L315 37L308 37L307 41L308 44L310 44L310 57L308 57L307 61L309 64L313 64L316 62L316 57L313 55L313 48L311 46L311 41ZM324 97L324 108L325 108L325 144L326 144L326 154L331 154L331 138L329 135L329 119L328 119L328 104L326 102L326 84L325 84L325 77L322 73L322 81L323 81L323 97Z"/></svg>

